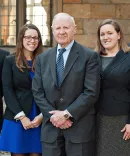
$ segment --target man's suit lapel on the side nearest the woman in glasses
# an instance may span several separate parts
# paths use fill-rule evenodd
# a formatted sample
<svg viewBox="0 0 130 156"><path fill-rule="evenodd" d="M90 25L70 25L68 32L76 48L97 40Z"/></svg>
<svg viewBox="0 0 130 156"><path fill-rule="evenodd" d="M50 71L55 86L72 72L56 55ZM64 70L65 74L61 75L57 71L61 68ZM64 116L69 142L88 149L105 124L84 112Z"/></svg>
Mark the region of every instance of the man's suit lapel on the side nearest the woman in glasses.
<svg viewBox="0 0 130 156"><path fill-rule="evenodd" d="M52 77L53 77L53 81L55 82L55 84L57 86L57 78L56 78L56 53L57 53L57 47L56 48L53 48L51 50L50 69L51 69L51 74L52 74Z"/></svg>

